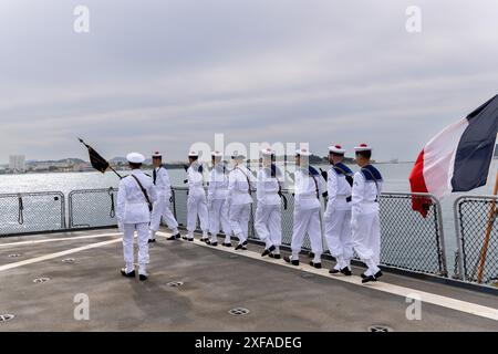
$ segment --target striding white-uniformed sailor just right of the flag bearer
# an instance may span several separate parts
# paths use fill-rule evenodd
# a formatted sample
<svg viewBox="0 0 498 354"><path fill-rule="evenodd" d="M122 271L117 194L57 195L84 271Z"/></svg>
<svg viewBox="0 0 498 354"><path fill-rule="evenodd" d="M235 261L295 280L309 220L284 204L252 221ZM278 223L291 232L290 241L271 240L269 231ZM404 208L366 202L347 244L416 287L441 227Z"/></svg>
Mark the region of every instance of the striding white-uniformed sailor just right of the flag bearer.
<svg viewBox="0 0 498 354"><path fill-rule="evenodd" d="M172 183L169 181L169 175L163 166L163 155L159 152L155 152L152 158L154 165L153 183L156 186L157 200L154 202L151 218L148 242L156 241L156 232L159 230L160 218L164 219L172 230L172 236L167 240L176 240L180 238L180 235L178 232L178 222L170 209Z"/></svg>

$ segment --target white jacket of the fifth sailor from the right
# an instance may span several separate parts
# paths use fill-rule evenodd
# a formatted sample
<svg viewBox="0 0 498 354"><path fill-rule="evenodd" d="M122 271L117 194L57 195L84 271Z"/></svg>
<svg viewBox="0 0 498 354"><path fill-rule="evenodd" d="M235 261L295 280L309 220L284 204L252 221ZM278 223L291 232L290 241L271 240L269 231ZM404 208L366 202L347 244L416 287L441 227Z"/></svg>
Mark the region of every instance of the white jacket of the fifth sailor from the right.
<svg viewBox="0 0 498 354"><path fill-rule="evenodd" d="M248 183L249 180L249 183ZM253 187L256 178L243 165L237 165L228 176L228 204L232 206L251 204L249 188Z"/></svg>

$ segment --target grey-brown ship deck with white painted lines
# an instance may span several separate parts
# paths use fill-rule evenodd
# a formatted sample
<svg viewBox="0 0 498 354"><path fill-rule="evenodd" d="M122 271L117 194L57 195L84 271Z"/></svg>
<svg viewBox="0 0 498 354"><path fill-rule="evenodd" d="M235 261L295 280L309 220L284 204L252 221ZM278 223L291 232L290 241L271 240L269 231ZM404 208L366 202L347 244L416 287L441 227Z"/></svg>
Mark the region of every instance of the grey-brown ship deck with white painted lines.
<svg viewBox="0 0 498 354"><path fill-rule="evenodd" d="M146 282L121 277L116 229L0 239L0 314L14 315L0 331L498 331L492 293L395 273L363 285L305 256L294 268L262 259L258 244L236 252L158 233ZM89 296L87 321L74 319L76 294ZM421 320L407 319L407 296L422 299ZM250 312L230 314L236 308Z"/></svg>

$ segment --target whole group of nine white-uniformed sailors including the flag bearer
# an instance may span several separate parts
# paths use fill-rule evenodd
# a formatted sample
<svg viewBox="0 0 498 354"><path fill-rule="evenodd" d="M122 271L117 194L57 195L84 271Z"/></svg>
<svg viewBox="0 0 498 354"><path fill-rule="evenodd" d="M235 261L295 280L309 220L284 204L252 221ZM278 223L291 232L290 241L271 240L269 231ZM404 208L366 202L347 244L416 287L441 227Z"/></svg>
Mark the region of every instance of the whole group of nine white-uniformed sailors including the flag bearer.
<svg viewBox="0 0 498 354"><path fill-rule="evenodd" d="M377 281L382 277L380 264L381 230L378 198L383 178L378 169L371 165L372 148L361 144L354 148L360 169L353 171L343 163L345 149L340 145L329 147L328 171L318 171L309 165L311 153L301 148L295 152L295 173L293 174L293 232L289 257L283 260L299 266L304 238L311 242L313 259L310 266L322 268L322 236L330 253L335 259L331 274L352 275L351 260L355 251L367 270L361 274L362 282ZM153 176L141 170L145 157L138 153L127 155L132 174L120 183L116 216L120 230L124 233L123 249L124 277L135 277L133 237L138 237L138 277L147 279L148 243L155 242L155 233L163 219L172 230L167 240L180 238L178 222L170 210L172 184L162 164L162 154L153 154ZM198 162L199 154L188 154L186 168L188 184L187 199L187 241L194 241L194 231L199 220L201 241L218 246L218 233L224 232L224 247L246 250L249 222L256 195L255 230L264 242L262 257L280 259L282 242L281 206L287 208L282 194L286 178L276 165L276 153L271 148L261 150L260 168L253 174L246 167L246 157L235 153L232 168L227 168L220 152L211 153L211 170L205 190L204 167ZM320 198L326 200L321 210ZM322 232L323 230L323 232Z"/></svg>

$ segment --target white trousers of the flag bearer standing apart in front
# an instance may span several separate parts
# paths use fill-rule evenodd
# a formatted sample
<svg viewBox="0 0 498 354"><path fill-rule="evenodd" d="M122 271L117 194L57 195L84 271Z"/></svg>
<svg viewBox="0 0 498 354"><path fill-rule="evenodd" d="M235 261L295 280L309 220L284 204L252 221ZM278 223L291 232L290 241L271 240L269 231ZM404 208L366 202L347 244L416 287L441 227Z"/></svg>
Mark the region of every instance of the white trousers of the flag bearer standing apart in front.
<svg viewBox="0 0 498 354"><path fill-rule="evenodd" d="M135 230L138 236L138 273L147 275L148 258L148 222L124 223L123 225L123 253L126 264L126 272L135 269L135 256L133 247L133 237Z"/></svg>

